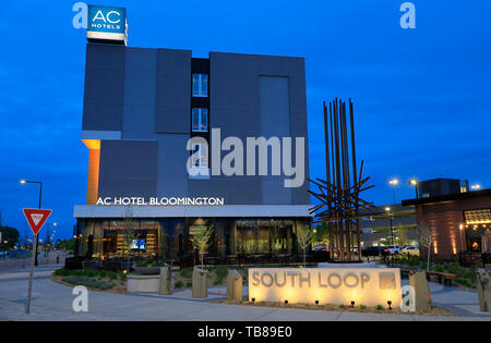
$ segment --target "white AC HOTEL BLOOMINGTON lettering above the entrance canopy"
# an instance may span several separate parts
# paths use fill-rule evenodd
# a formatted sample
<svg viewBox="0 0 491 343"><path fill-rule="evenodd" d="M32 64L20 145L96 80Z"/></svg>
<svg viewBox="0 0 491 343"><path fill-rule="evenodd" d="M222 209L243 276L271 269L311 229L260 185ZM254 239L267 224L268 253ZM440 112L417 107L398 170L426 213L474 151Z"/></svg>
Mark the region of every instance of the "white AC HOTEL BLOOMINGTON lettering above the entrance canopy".
<svg viewBox="0 0 491 343"><path fill-rule="evenodd" d="M223 206L224 198L217 197L99 197L96 205L103 206Z"/></svg>

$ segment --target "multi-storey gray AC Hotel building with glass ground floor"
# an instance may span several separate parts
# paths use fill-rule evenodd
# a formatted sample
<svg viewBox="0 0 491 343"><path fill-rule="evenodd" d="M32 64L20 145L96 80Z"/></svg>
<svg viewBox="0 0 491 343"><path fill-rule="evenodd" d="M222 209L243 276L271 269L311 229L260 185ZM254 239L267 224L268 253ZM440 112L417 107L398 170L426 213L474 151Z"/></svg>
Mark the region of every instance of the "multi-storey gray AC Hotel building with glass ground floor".
<svg viewBox="0 0 491 343"><path fill-rule="evenodd" d="M285 187L288 177L272 175L272 166L267 175L214 174L212 161L228 151L213 150L212 128L244 147L247 137L303 137L291 152L294 164L298 149L304 154L301 186ZM209 148L188 150L191 137ZM196 225L214 228L208 259L297 254L296 232L311 207L302 58L193 58L190 50L88 42L82 142L88 176L86 204L74 207L79 255L121 258L129 223L131 254L141 258L192 260ZM204 173L188 172L190 158Z"/></svg>

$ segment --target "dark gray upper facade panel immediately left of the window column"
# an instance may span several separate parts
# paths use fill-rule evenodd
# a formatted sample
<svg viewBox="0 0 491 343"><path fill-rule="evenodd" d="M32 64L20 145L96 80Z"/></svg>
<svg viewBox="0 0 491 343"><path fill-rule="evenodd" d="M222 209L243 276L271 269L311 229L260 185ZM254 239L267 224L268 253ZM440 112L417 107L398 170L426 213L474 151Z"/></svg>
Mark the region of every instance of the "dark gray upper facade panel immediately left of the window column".
<svg viewBox="0 0 491 343"><path fill-rule="evenodd" d="M191 130L191 51L157 49L156 132Z"/></svg>

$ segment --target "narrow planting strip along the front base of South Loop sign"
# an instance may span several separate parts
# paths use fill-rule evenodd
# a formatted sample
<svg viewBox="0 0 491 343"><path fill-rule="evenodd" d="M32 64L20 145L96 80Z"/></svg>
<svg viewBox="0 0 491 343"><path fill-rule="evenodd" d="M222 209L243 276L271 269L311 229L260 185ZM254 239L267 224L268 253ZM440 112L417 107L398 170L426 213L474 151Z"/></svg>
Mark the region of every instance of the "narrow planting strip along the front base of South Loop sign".
<svg viewBox="0 0 491 343"><path fill-rule="evenodd" d="M348 313L362 313L362 314L385 314L385 315L420 315L420 316L447 316L457 317L457 315L438 307L432 306L428 311L416 311L416 313L403 313L398 307L388 309L386 306L378 305L376 307L367 306L355 306L350 305L315 305L315 304L284 304L284 303L273 303L273 302L249 302L247 299L242 302L233 301L215 301L213 303L217 304L228 304L228 305L244 305L244 306L262 306L262 307L278 307L278 308L301 308L310 310L328 310L328 311L348 311Z"/></svg>

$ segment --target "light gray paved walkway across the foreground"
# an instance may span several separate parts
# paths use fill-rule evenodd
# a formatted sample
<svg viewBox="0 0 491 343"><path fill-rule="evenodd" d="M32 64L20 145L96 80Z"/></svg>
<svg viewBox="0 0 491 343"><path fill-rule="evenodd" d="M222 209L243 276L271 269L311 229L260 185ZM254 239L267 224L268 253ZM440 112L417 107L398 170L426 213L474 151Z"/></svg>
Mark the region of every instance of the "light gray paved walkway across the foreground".
<svg viewBox="0 0 491 343"><path fill-rule="evenodd" d="M58 267L36 269L31 315L25 315L28 273L23 269L1 271L0 320L491 320L491 314L479 313L476 293L433 283L434 304L462 317L357 314L211 303L212 299L224 298L225 287L211 289L207 299L192 299L190 290L178 291L172 296L89 292L88 313L76 314L72 310L72 289L49 279L51 271Z"/></svg>

